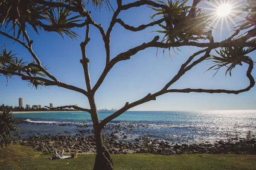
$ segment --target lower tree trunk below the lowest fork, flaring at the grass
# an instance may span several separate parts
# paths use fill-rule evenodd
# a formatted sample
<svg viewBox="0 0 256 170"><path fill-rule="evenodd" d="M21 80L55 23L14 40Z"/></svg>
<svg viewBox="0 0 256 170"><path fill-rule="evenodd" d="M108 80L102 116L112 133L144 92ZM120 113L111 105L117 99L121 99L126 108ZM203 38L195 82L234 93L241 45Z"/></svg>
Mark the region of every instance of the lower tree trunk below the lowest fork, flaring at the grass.
<svg viewBox="0 0 256 170"><path fill-rule="evenodd" d="M113 170L113 160L102 141L102 130L94 129L97 155L93 170Z"/></svg>

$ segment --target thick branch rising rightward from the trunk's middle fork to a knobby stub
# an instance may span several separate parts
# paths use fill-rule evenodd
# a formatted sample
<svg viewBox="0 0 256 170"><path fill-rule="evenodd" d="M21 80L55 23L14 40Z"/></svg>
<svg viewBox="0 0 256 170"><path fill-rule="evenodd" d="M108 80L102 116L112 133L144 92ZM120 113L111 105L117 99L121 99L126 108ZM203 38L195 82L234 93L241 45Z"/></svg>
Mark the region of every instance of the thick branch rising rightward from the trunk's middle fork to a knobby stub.
<svg viewBox="0 0 256 170"><path fill-rule="evenodd" d="M142 51L145 48L151 47L151 44L155 43L157 40L159 40L159 36L154 37L154 39L151 42L148 42L148 43L144 42L142 45L131 48L130 50L128 50L124 53L118 54L115 58L111 59L111 61L108 63L108 65L106 65L106 67L105 67L104 71L102 72L101 76L99 77L98 81L94 85L92 91L95 92L99 88L99 86L102 84L103 80L107 76L108 72L111 70L111 68L113 68L113 66L117 62L126 60L126 59L130 59L131 56L133 56L137 52Z"/></svg>

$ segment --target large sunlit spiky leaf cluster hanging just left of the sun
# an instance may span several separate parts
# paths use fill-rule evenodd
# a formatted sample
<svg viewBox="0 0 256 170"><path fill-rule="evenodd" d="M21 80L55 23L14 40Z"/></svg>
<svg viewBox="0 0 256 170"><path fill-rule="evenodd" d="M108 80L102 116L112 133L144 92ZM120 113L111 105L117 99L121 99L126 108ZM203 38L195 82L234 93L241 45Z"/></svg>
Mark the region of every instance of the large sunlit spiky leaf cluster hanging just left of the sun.
<svg viewBox="0 0 256 170"><path fill-rule="evenodd" d="M157 16L166 19L165 25L158 24L163 30L155 31L164 34L162 42L174 43L189 40L206 40L205 34L210 29L213 29L209 26L212 22L209 19L209 15L202 12L200 8L195 9L195 17L188 16L192 8L191 6L186 6L188 0L176 0L174 3L172 3L172 0L168 0L168 3L164 3L161 0L157 0L157 2L166 6L166 8L161 9L151 7L154 11L157 11L156 14L151 16L153 20Z"/></svg>

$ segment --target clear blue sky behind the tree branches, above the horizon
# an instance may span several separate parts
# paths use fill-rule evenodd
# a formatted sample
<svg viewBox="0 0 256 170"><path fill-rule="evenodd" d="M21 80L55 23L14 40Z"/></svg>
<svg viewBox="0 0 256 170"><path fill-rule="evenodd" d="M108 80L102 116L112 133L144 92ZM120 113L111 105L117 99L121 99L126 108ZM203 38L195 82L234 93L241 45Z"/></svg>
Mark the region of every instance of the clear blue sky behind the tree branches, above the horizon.
<svg viewBox="0 0 256 170"><path fill-rule="evenodd" d="M213 0L210 1L214 4ZM123 3L127 2L123 0ZM116 8L114 1L112 5L113 8ZM205 3L201 2L200 5L205 6ZM95 11L90 5L87 6L87 10L92 11L93 19L97 23L102 24L106 31L113 11L105 9ZM208 10L208 12L210 11ZM141 24L151 22L150 16L152 14L154 14L154 11L146 6L142 6L121 12L119 18L131 26L140 26ZM222 31L220 29L221 25L223 25ZM224 22L217 24L215 28L216 30L213 32L215 42L224 40L225 37L227 38L230 35L229 29L227 29ZM154 26L144 31L131 32L116 23L111 33L111 59L117 54L143 42L151 41L156 35L163 37L160 33L150 33L159 29L159 26ZM84 41L85 28L76 28L75 30L81 35L78 40L71 40L67 36L62 39L55 32L42 31L38 35L32 28L29 28L28 33L30 39L34 40L34 52L41 59L41 62L47 65L48 71L51 74L62 82L86 89L83 68L79 62L81 59L80 43ZM92 85L95 85L105 67L105 48L99 31L93 26L90 26L90 39L87 45L87 57L90 59L89 67ZM32 61L32 56L27 49L19 43L0 35L0 44L3 45L3 42L8 47L8 50L15 51L18 57L23 57L27 62ZM134 102L143 98L148 93L153 94L162 89L177 74L180 65L190 55L201 49L183 47L180 50L182 52L179 51L178 54L172 52L172 58L170 58L167 53L168 50L166 50L165 56L163 56L163 50L158 49L156 56L156 48L147 48L132 56L129 60L117 63L96 92L97 108L119 109L125 105L125 102ZM254 61L255 54L255 52L250 54ZM246 64L236 66L232 71L232 77L229 75L225 76L225 68L220 69L215 77L212 77L215 71L205 72L209 67L210 65L207 61L201 62L175 82L171 88L239 90L249 85L249 80L246 77ZM256 70L253 70L252 75L256 77ZM18 98L23 97L24 105L29 104L30 106L49 106L49 103L53 103L54 107L60 105L90 107L87 97L75 91L55 86L42 87L36 90L35 88L28 87L28 82L21 80L19 77L8 79L7 86L6 83L6 77L0 76L0 104L18 106ZM156 101L132 108L130 111L256 110L255 94L256 87L237 95L170 93L157 97Z"/></svg>

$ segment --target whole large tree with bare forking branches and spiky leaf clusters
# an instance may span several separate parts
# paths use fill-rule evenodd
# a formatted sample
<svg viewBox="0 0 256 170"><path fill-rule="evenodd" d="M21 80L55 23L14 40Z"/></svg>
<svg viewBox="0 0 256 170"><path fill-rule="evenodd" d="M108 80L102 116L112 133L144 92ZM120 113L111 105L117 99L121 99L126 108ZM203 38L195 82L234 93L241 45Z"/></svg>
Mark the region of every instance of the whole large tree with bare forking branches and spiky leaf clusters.
<svg viewBox="0 0 256 170"><path fill-rule="evenodd" d="M105 148L102 141L102 128L111 120L121 115L130 108L137 105L141 105L151 100L156 100L157 96L161 96L167 93L226 93L226 94L239 94L244 91L249 91L255 85L251 71L253 70L253 60L248 56L256 49L256 3L253 0L248 0L243 10L237 15L246 16L241 20L234 28L233 34L225 40L220 42L214 42L212 37L212 14L204 12L203 8L198 7L198 3L201 0L193 0L192 6L189 6L188 0L176 0L174 2L167 1L152 1L152 0L138 0L132 3L122 2L122 0L116 0L115 2L109 2L108 0L92 0L93 6L96 10L99 8L107 8L111 14L113 14L112 20L107 29L104 29L101 24L96 23L93 20L91 11L87 11L89 0L13 0L0 1L0 23L5 28L13 30L13 35L9 34L5 29L0 30L0 34L15 40L20 45L25 47L33 57L32 62L23 62L12 51L8 51L6 46L3 46L3 52L0 54L0 74L10 78L13 76L21 77L23 80L29 81L30 85L38 88L40 86L55 85L58 87L70 89L72 91L84 94L87 97L90 108L81 108L77 105L66 105L58 108L74 108L80 111L86 111L90 113L93 121L94 136L96 140L97 155L94 164L95 170L111 170L113 169L113 161L111 159L108 150ZM116 8L113 8L115 3ZM147 6L152 8L155 13L151 16L152 22L140 25L138 27L130 26L126 24L120 17L121 11L126 11L131 8ZM159 33L150 42L144 42L141 45L132 47L131 49L122 52L116 57L111 59L111 46L110 37L111 31L116 23L120 24L123 28L129 31L142 31L145 28L151 26L159 26L160 30L153 30ZM86 28L85 40L81 42L81 64L84 70L84 78L87 89L75 87L73 85L61 82L52 74L48 69L42 65L40 59L33 51L33 40L30 40L27 32L27 27L30 26L35 32L39 34L38 29L44 31L54 31L61 35L63 38L65 35L71 39L76 40L79 36L73 28ZM89 63L90 57L87 57L87 44L90 41L90 26L93 26L99 30L102 36L102 40L105 46L106 52L106 64L102 71L101 76L97 80L96 84L92 87ZM18 30L15 31L15 28ZM15 34L16 33L16 34ZM160 39L160 36L163 37ZM21 37L21 38L20 38ZM186 62L181 66L177 74L163 87L160 91L154 94L149 93L142 99L135 102L126 102L125 105L118 111L103 119L99 120L95 94L102 82L106 78L109 71L116 65L116 63L128 60L140 51L147 48L171 48L175 50L183 46L194 46L203 48L194 54L192 54ZM198 56L202 55L199 58ZM215 69L218 71L222 67L226 67L226 74L236 67L236 65L242 65L242 63L248 64L247 74L250 81L250 85L247 88L241 90L226 90L226 89L172 89L170 88L173 83L180 79L187 71L195 67L204 60L209 60L212 63L212 67L209 69ZM46 107L46 106L45 106ZM49 107L47 107L49 108ZM50 108L57 109L57 108Z"/></svg>

